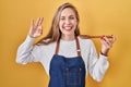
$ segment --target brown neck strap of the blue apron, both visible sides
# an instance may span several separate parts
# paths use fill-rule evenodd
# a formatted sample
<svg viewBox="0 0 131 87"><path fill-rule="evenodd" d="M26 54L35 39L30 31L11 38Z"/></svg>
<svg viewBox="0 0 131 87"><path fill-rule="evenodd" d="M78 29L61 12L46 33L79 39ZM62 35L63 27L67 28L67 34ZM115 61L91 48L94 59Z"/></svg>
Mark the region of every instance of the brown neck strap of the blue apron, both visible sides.
<svg viewBox="0 0 131 87"><path fill-rule="evenodd" d="M79 42L78 37L75 38L75 42L76 42L76 52L78 52L78 55L81 57L80 42ZM57 46L56 46L56 52L55 52L55 54L58 54L58 52L59 52L59 45L60 45L60 40L57 40Z"/></svg>

